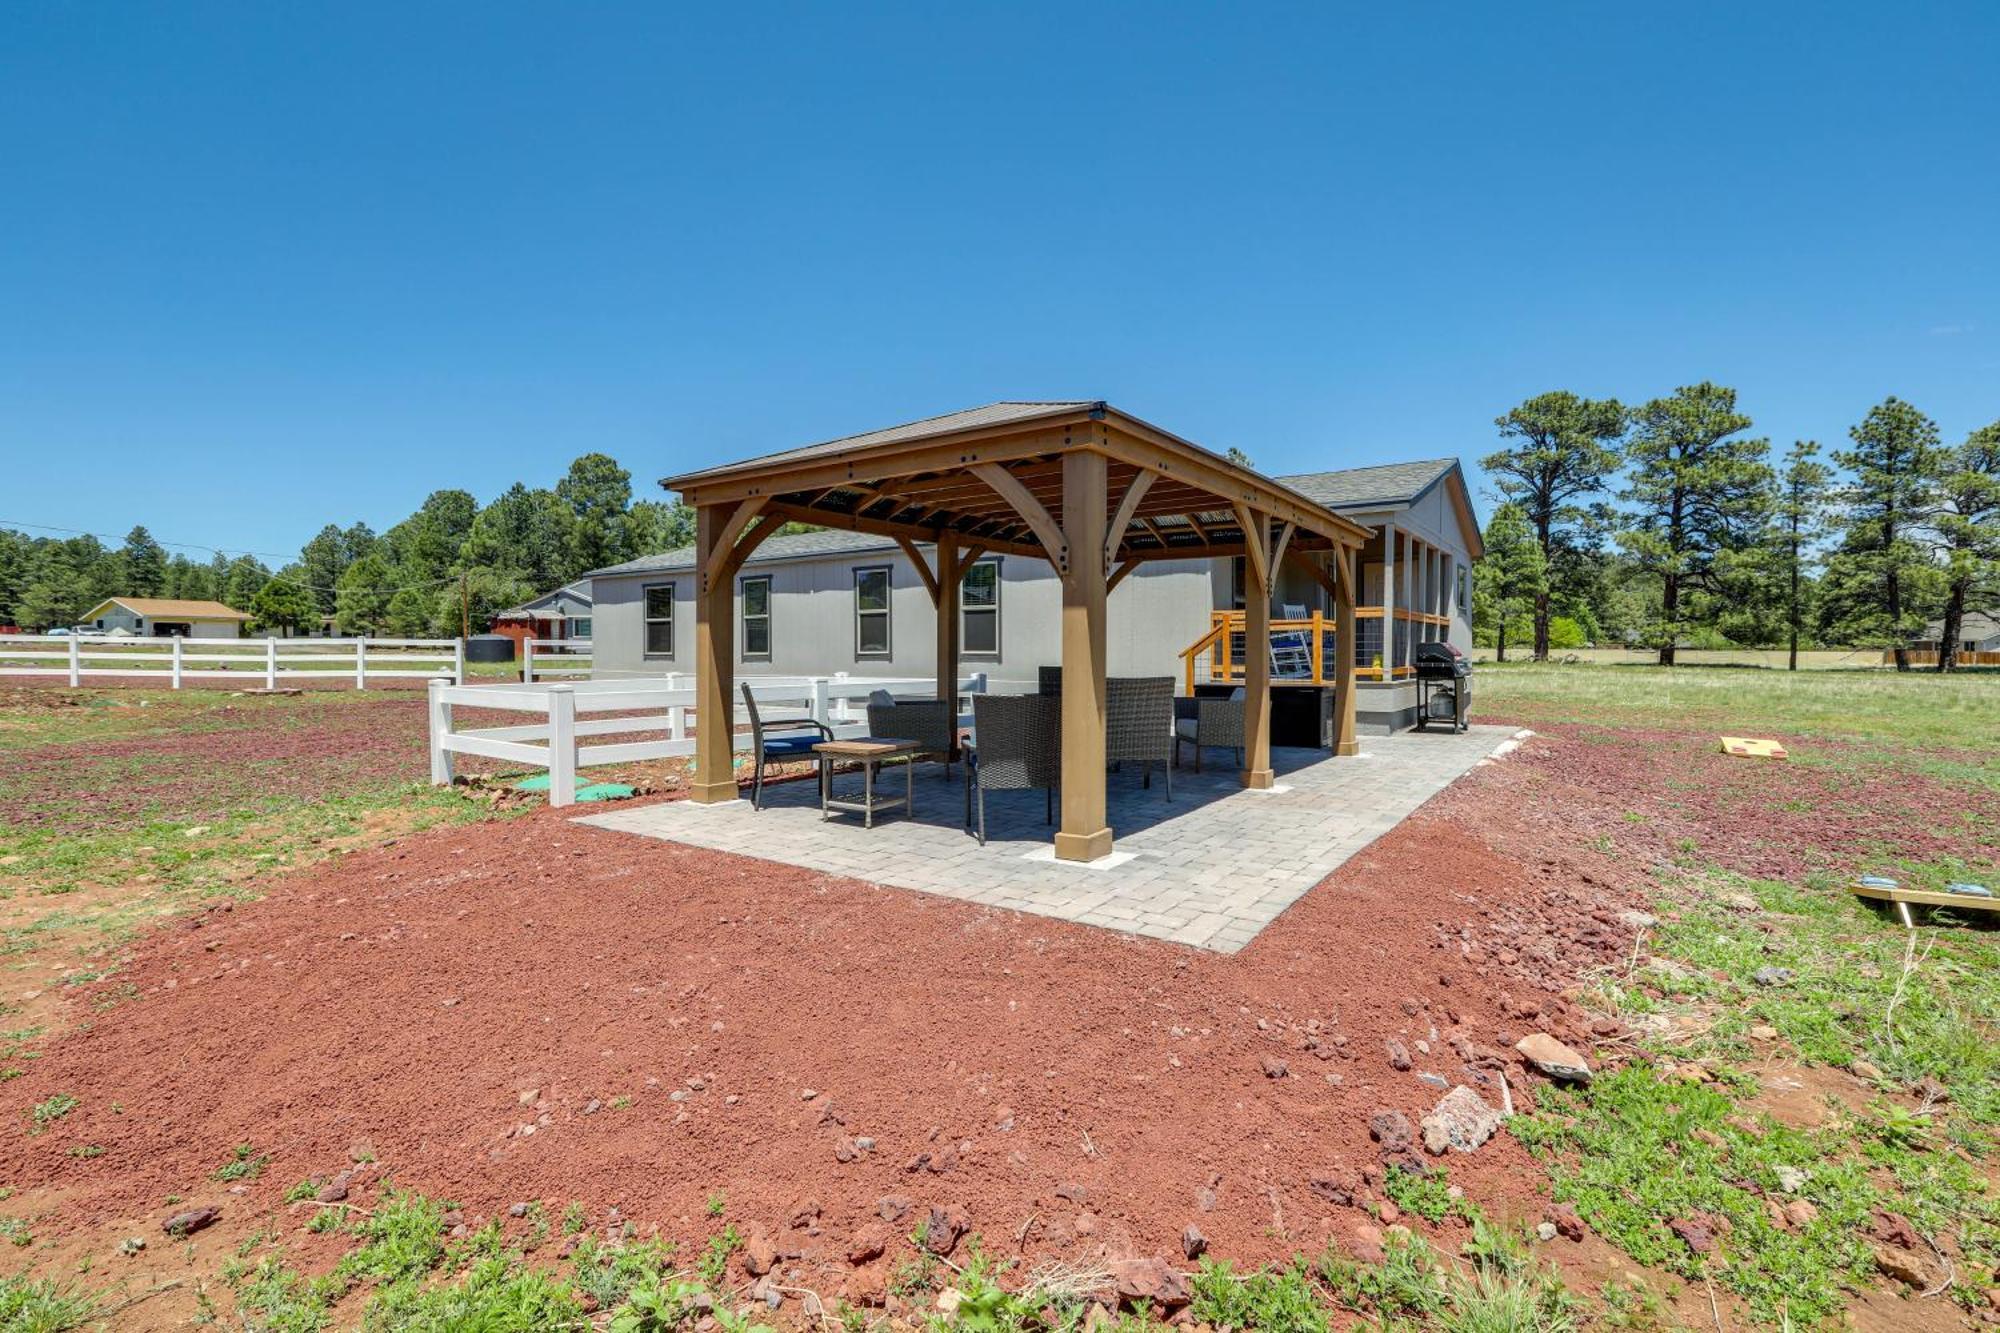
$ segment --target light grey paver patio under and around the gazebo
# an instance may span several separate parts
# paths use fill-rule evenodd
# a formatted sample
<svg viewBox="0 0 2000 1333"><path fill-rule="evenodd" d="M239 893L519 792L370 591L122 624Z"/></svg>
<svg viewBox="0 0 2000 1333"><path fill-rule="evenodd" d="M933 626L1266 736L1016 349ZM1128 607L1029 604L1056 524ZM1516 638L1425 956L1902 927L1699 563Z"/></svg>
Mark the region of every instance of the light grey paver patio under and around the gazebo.
<svg viewBox="0 0 2000 1333"><path fill-rule="evenodd" d="M818 783L764 789L748 801L672 801L578 819L582 825L780 861L876 885L1148 935L1236 953L1348 857L1518 733L1400 733L1364 743L1362 759L1274 749L1278 787L1244 789L1222 751L1208 769L1174 773L1174 799L1154 773L1108 781L1116 853L1100 863L1050 855L1042 793L990 793L986 847L964 829L964 783L938 765L916 773L916 817L862 829L858 817L820 821ZM884 781L902 789L900 775ZM836 785L860 783L840 775Z"/></svg>

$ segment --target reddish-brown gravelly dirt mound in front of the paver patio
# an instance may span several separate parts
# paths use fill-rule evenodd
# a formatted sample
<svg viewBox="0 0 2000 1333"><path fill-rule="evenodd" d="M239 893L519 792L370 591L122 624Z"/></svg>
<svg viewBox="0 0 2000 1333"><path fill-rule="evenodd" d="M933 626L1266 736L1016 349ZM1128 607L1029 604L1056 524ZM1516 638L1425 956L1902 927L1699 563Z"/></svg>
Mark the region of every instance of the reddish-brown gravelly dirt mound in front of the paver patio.
<svg viewBox="0 0 2000 1333"><path fill-rule="evenodd" d="M1378 1111L1414 1125L1440 1081L1500 1105L1502 1069L1520 1099L1528 1031L1590 1049L1558 993L1630 947L1632 899L1488 845L1472 811L1534 781L1480 769L1236 957L546 811L436 831L142 939L6 1085L18 1117L78 1105L0 1137L0 1173L60 1199L44 1229L274 1209L364 1145L472 1219L578 1199L698 1237L714 1193L770 1231L810 1199L830 1269L884 1199L964 1207L1002 1253L1178 1253L1190 1223L1316 1247L1386 1157L1436 1163ZM240 1143L270 1163L230 1195ZM1444 1165L1530 1189L1506 1137Z"/></svg>

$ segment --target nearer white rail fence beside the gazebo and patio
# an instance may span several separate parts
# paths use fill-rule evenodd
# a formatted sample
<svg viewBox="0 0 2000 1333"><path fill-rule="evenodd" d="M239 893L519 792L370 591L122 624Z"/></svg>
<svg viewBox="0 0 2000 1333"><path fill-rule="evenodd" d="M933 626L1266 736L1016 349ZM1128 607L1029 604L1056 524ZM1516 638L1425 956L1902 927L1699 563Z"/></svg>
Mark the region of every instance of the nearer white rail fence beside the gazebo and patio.
<svg viewBox="0 0 2000 1333"><path fill-rule="evenodd" d="M750 693L766 717L810 717L826 723L834 737L868 735L866 699L874 691L930 695L936 681L882 677L752 677ZM986 677L958 683L960 697L986 691ZM512 727L456 731L452 705L528 713L536 721ZM618 713L624 717L602 717ZM672 759L694 753L694 677L670 675L648 681L560 681L538 685L446 685L430 683L430 781L452 781L452 755L484 755L510 765L548 769L548 803L576 799L576 771L590 765L622 765L644 759ZM738 703L730 731L734 749L750 749L748 723ZM592 743L596 737L666 733L666 739Z"/></svg>

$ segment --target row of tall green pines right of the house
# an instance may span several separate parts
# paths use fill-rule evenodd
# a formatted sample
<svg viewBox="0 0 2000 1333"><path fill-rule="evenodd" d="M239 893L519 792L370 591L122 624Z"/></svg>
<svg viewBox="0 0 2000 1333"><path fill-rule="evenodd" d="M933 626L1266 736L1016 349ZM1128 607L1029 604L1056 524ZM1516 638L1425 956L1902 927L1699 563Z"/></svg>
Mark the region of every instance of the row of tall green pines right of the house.
<svg viewBox="0 0 2000 1333"><path fill-rule="evenodd" d="M1942 620L1958 664L1970 610L2000 612L2000 422L1958 444L1884 398L1822 456L1752 436L1736 390L1700 382L1640 406L1558 390L1494 422L1498 492L1474 634L1506 656L1584 642L1658 650L1906 644Z"/></svg>

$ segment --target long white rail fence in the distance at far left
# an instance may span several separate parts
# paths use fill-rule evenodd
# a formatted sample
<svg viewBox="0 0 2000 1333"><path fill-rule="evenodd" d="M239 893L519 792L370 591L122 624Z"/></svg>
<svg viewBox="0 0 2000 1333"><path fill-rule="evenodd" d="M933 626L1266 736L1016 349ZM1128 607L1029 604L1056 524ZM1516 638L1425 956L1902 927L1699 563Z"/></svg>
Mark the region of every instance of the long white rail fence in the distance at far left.
<svg viewBox="0 0 2000 1333"><path fill-rule="evenodd" d="M394 677L466 683L456 638L96 638L90 634L0 636L0 677L64 677L72 687L100 677L148 679L170 689L190 681L342 681L368 689Z"/></svg>

